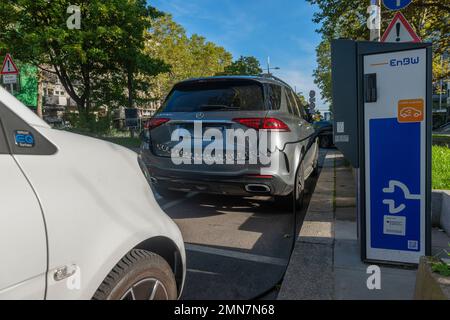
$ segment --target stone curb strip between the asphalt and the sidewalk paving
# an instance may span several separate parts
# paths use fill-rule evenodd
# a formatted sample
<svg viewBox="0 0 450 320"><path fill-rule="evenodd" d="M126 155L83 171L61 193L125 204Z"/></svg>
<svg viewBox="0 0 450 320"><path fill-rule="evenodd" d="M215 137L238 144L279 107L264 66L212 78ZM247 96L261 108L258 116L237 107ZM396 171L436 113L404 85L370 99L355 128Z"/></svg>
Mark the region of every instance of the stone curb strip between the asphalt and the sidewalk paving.
<svg viewBox="0 0 450 320"><path fill-rule="evenodd" d="M325 155L314 194L278 294L279 300L330 300L334 296L335 156ZM318 277L320 270L320 277Z"/></svg>

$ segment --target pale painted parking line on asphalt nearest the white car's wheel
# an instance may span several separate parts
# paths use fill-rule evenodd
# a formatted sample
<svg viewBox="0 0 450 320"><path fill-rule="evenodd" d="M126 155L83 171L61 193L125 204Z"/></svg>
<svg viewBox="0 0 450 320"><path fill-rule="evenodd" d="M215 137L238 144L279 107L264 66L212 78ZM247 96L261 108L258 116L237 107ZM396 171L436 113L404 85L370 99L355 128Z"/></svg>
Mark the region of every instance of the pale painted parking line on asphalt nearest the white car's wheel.
<svg viewBox="0 0 450 320"><path fill-rule="evenodd" d="M190 243L186 243L185 247L186 247L186 250L188 250L188 251L214 254L216 256L222 256L222 257L228 257L228 258L234 258L234 259L240 259L240 260L246 260L246 261L252 261L252 262L259 262L259 263L266 263L266 264L272 264L272 265L282 266L282 267L286 267L289 262L287 259L261 256L261 255L233 251L233 250L217 249L217 248L211 248L211 247L207 247L207 246L201 246L201 245L190 244Z"/></svg>

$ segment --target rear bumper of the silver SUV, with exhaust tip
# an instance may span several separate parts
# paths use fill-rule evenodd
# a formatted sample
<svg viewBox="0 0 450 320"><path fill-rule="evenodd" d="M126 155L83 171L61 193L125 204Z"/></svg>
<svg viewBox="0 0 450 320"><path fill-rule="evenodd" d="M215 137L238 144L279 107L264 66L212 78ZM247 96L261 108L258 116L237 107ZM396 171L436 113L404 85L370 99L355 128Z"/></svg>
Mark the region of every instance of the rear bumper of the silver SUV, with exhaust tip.
<svg viewBox="0 0 450 320"><path fill-rule="evenodd" d="M294 189L296 146L272 153L270 167L262 164L181 164L149 149L140 154L156 188L237 196L285 196ZM289 156L290 155L290 156ZM264 169L264 170L263 170Z"/></svg>

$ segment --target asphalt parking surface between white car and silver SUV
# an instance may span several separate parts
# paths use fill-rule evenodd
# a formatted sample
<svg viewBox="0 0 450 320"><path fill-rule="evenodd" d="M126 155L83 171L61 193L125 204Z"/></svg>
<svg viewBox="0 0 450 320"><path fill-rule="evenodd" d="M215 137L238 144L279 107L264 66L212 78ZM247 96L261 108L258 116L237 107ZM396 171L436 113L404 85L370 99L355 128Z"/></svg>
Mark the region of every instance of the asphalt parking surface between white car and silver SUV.
<svg viewBox="0 0 450 320"><path fill-rule="evenodd" d="M165 199L156 195L186 243L187 276L181 298L275 298L273 288L286 271L294 223L298 230L315 184L316 178L308 179L305 204L296 215L270 197L189 193Z"/></svg>

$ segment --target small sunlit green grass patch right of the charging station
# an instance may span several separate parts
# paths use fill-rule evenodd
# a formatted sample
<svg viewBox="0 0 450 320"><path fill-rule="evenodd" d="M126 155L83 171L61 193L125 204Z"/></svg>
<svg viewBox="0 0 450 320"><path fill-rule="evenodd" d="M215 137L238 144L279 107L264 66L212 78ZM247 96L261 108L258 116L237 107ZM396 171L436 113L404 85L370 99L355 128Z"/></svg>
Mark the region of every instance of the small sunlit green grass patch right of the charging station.
<svg viewBox="0 0 450 320"><path fill-rule="evenodd" d="M433 189L450 190L450 148L433 146Z"/></svg>

